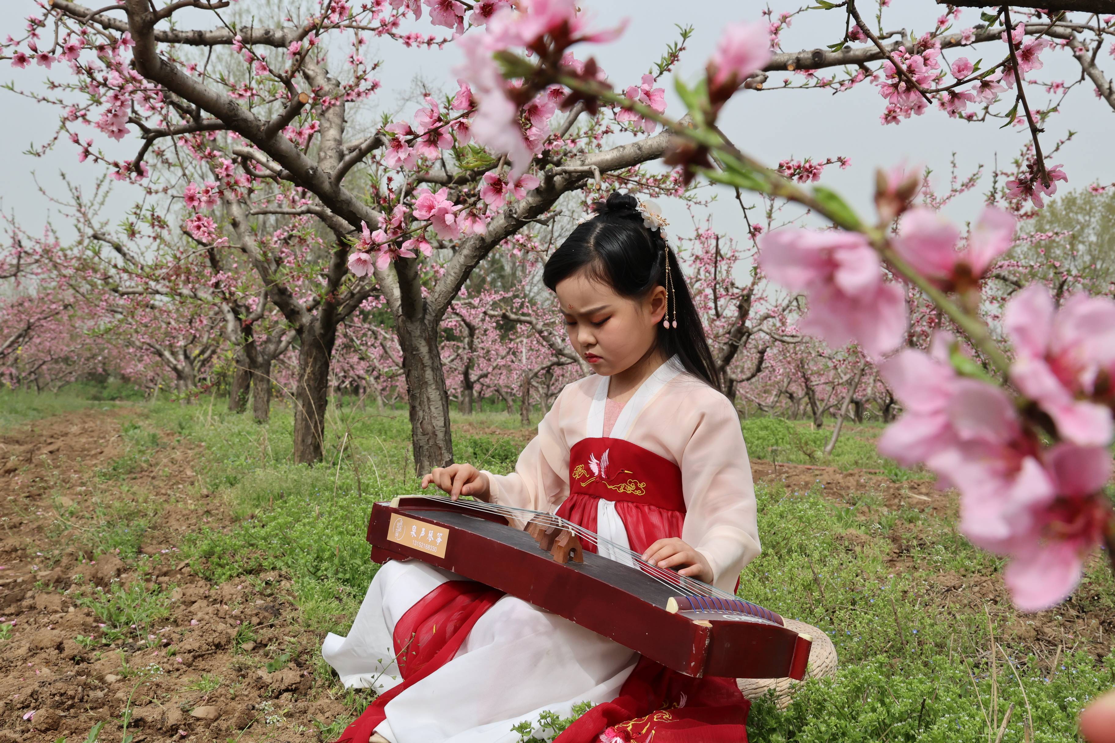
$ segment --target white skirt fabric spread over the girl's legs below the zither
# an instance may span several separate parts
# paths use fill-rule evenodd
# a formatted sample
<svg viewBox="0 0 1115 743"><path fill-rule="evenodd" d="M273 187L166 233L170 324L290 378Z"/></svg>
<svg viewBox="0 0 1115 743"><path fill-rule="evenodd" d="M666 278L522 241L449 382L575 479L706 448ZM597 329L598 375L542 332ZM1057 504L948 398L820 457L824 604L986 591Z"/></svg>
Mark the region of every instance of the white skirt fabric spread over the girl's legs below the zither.
<svg viewBox="0 0 1115 743"><path fill-rule="evenodd" d="M321 647L346 687L385 692L401 683L395 624L446 580L462 580L417 560L385 564L348 637L329 633ZM581 702L619 696L638 654L619 643L504 596L473 626L454 656L385 707L376 732L391 743L517 743L512 727L535 725L544 711L570 716Z"/></svg>

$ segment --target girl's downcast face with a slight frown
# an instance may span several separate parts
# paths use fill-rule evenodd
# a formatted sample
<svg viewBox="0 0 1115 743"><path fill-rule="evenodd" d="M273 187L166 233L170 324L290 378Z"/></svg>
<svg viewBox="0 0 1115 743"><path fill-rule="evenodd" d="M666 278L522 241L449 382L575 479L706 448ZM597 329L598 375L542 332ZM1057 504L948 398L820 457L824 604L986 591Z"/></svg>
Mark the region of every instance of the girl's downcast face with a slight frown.
<svg viewBox="0 0 1115 743"><path fill-rule="evenodd" d="M598 374L623 372L653 348L666 314L662 286L642 299L629 299L579 271L555 291L570 343Z"/></svg>

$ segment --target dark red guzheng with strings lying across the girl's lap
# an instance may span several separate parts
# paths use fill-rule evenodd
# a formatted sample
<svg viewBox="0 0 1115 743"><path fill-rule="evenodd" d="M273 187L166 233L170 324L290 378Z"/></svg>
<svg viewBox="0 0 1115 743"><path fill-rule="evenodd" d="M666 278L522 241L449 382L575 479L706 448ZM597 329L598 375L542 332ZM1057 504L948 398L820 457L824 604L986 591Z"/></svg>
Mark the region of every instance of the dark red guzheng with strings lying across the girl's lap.
<svg viewBox="0 0 1115 743"><path fill-rule="evenodd" d="M452 570L690 676L805 675L813 641L774 612L551 514L404 496L372 507L368 541L377 563L414 558Z"/></svg>

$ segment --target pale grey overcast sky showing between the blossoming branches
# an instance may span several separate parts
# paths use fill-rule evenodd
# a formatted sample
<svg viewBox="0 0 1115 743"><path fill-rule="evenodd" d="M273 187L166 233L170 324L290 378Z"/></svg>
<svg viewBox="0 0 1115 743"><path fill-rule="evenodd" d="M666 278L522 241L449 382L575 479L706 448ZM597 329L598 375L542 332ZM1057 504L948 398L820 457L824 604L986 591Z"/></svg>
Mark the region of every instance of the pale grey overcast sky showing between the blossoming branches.
<svg viewBox="0 0 1115 743"><path fill-rule="evenodd" d="M240 8L252 2L258 0L243 0ZM0 18L0 32L3 36L21 36L21 19L36 11L35 3L31 0L4 0L4 4L17 12ZM797 7L777 0L770 4L779 10ZM884 21L888 29L906 28L921 33L932 27L940 13L940 6L932 0L901 0L894 4L901 8L889 9ZM583 47L579 56L595 55L613 84L623 88L638 82L639 76L677 37L675 25L692 25L696 32L676 74L686 79L697 79L723 26L734 20L757 19L758 11L750 10L757 6L757 2L738 0L584 0L582 7L595 12L601 26L612 26L623 18L629 23L620 41L592 51ZM741 10L745 7L749 9ZM979 22L977 10L966 11L956 28ZM181 26L188 27L188 20L184 17ZM843 26L840 11L805 13L784 35L784 49L812 49L832 43L840 40ZM426 18L420 27L428 32ZM983 51L968 56L972 61L979 57L989 61L998 59L1001 49L992 52L992 46L997 45L983 45ZM397 109L398 101L414 89L414 80L419 77L432 85L440 81L446 90L456 88L453 82L456 75L450 68L459 61L459 55L452 45L444 51L418 51L385 41L380 53L387 60L378 75L384 81L379 98L385 108ZM947 55L949 60L958 56L956 52ZM1067 53L1047 51L1044 58L1046 67L1040 71L1039 79L1070 82L1079 77L1079 67ZM1107 67L1113 67L1106 55L1102 59L1106 60ZM38 86L42 90L47 75L42 68L17 70L7 61L0 62L0 81L13 80L20 88ZM56 65L52 75L64 79L69 72L64 66ZM772 82L780 77L777 75ZM679 114L680 105L668 80L665 87L669 100L667 113ZM1053 163L1064 163L1069 187L1082 187L1096 180L1115 180L1115 148L1099 146L1103 141L1111 141L1115 133L1115 115L1106 104L1095 98L1090 87L1082 88L1068 96L1063 111L1050 118L1048 131L1044 135L1048 147L1069 129L1078 133L1076 139L1053 159ZM1035 106L1044 107L1045 96L1036 92L1038 100ZM60 170L65 170L71 180L89 185L99 168L79 164L76 148L69 143L59 144L56 151L41 158L22 154L30 145L39 145L50 136L57 126L57 110L7 90L0 90L0 104L4 114L0 117L4 134L0 147L6 166L6 177L0 183L0 203L6 211L16 212L25 227L37 231L48 218L50 204L38 192L36 179L48 192L56 193L61 187ZM1020 128L999 129L996 123L966 124L950 119L935 109L900 126L882 126L879 117L883 107L878 88L867 85L836 96L818 90L745 91L733 100L720 121L741 148L770 165L786 157L851 157L852 167L846 170L830 167L823 183L838 189L857 209L869 215L876 167L901 162L923 164L937 170L938 183L946 184L952 153L956 153L962 173L971 172L980 164L990 170L997 154L1000 163L1009 162L1028 136ZM99 136L99 133L97 141L106 153L116 157L132 157L137 147L136 141L128 139L117 145ZM980 188L987 186L988 179L985 178ZM118 187L117 190L106 216L123 215L123 209L134 198L126 187ZM950 213L958 221L969 219L976 215L979 205L979 195L972 195L950 207ZM675 216L677 225L677 217L681 215L678 207L665 206ZM741 219L728 193L720 192L714 218L719 229L739 234Z"/></svg>

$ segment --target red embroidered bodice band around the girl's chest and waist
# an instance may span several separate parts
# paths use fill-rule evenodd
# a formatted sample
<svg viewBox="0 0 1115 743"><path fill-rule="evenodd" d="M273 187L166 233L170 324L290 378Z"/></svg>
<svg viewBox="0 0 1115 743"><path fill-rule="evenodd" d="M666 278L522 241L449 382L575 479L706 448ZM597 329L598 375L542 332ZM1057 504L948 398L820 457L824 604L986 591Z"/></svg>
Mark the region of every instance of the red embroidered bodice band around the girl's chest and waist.
<svg viewBox="0 0 1115 743"><path fill-rule="evenodd" d="M569 498L558 516L597 532L600 500L611 500L628 544L644 551L657 539L681 537L686 501L681 469L626 439L581 439L569 452ZM595 547L584 545L592 551Z"/></svg>

